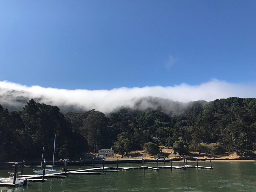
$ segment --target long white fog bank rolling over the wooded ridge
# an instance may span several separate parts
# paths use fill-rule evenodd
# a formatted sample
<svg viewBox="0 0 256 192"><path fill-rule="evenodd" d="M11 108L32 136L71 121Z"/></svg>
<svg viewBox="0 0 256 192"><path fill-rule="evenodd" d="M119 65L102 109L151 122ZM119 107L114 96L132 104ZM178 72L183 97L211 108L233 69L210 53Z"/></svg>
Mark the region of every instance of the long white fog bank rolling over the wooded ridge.
<svg viewBox="0 0 256 192"><path fill-rule="evenodd" d="M71 107L75 111L95 109L109 113L121 107L134 109L156 108L152 102L142 98L156 98L163 106L166 99L180 102L197 100L213 101L220 98L242 97L255 98L256 84L235 84L213 79L200 85L182 83L175 86L153 86L143 88L115 88L111 90L67 90L44 88L40 86L24 86L8 81L0 81L0 104L23 107L27 100L34 98L37 102ZM163 99L161 99L163 98ZM138 105L138 103L140 103ZM175 107L172 105L173 108ZM170 107L172 107L170 105ZM174 110L174 109L173 109Z"/></svg>

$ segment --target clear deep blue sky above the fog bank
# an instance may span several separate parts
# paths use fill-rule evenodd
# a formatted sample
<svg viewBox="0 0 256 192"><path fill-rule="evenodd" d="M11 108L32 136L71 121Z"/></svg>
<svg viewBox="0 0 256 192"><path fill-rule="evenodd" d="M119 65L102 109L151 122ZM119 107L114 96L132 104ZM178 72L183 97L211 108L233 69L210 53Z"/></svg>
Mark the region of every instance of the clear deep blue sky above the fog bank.
<svg viewBox="0 0 256 192"><path fill-rule="evenodd" d="M255 1L1 1L0 81L65 89L256 81Z"/></svg>

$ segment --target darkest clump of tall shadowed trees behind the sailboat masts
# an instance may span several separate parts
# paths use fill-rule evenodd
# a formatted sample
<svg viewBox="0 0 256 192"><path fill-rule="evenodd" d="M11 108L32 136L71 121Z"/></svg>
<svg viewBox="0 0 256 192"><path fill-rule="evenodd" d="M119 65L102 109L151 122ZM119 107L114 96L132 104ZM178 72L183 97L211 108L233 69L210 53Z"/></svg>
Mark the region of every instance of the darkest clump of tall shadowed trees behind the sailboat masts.
<svg viewBox="0 0 256 192"><path fill-rule="evenodd" d="M1 161L7 159L40 159L42 147L45 158L52 156L54 134L58 156L74 156L72 125L57 106L27 102L22 112L8 112L0 106Z"/></svg>

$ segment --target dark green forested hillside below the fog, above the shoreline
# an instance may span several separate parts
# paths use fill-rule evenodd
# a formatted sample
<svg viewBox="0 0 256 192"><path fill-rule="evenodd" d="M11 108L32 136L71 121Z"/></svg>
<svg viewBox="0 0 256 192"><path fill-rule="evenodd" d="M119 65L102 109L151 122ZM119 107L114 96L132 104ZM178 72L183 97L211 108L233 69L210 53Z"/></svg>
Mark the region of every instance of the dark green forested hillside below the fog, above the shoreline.
<svg viewBox="0 0 256 192"><path fill-rule="evenodd" d="M0 161L38 160L43 146L45 158L49 159L54 134L58 158L76 158L83 152L110 147L124 154L126 150L142 149L153 136L166 146L173 146L182 137L184 145L193 152L204 152L203 146L215 142L221 151L225 148L253 157L256 99L195 101L175 115L167 114L161 107L143 111L120 109L108 116L95 110L62 114L57 106L33 99L23 111L9 112L0 106Z"/></svg>

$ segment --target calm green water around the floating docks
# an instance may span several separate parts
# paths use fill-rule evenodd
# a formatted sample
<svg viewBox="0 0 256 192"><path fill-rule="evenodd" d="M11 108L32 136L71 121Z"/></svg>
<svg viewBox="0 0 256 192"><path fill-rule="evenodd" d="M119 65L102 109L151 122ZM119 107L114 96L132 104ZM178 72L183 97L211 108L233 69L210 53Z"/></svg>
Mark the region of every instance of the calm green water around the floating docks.
<svg viewBox="0 0 256 192"><path fill-rule="evenodd" d="M159 163L159 166L163 165ZM168 165L168 163L166 163ZM173 166L183 165L173 163ZM196 165L196 163L188 163ZM115 166L115 165L106 165ZM119 164L119 167L135 167L141 164ZM156 166L147 163L145 166ZM199 166L209 166L199 162ZM57 191L256 191L256 165L254 162L213 162L213 170L188 168L106 172L105 175L69 175L68 178L52 178L43 183L30 182L26 187L0 187L0 191L57 192ZM68 166L69 169L77 166ZM0 170L0 176L8 176L12 169ZM32 168L24 174L33 174Z"/></svg>

